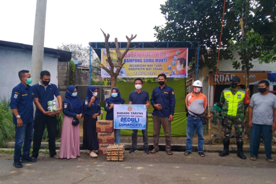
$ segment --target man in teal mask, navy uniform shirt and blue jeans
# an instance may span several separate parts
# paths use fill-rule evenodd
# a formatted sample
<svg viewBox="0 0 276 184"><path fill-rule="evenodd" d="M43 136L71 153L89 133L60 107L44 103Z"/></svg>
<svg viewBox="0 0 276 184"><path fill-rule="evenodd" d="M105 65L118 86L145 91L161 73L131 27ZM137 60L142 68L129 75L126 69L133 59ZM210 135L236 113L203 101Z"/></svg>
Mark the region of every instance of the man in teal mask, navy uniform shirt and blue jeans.
<svg viewBox="0 0 276 184"><path fill-rule="evenodd" d="M20 70L18 77L20 83L12 89L10 107L13 112L13 123L16 125L13 166L21 168L21 162L36 161L30 157L34 123L34 92L29 85L32 83L29 70ZM21 156L23 141L23 155Z"/></svg>

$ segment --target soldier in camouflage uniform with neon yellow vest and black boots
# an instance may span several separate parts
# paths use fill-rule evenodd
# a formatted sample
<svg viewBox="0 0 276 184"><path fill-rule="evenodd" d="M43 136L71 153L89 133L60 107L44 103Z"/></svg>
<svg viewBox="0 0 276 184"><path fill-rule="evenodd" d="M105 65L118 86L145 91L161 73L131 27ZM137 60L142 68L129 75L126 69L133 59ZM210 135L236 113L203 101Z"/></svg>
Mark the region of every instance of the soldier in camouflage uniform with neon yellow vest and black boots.
<svg viewBox="0 0 276 184"><path fill-rule="evenodd" d="M246 159L242 152L243 139L242 133L244 130L244 110L249 104L249 100L245 100L245 90L240 88L240 78L233 76L230 80L231 87L222 91L220 96L220 103L222 106L222 115L224 116L222 126L224 132L223 146L224 150L219 153L219 156L229 155L229 143L232 126L235 127L235 137L238 147L237 156L241 159Z"/></svg>

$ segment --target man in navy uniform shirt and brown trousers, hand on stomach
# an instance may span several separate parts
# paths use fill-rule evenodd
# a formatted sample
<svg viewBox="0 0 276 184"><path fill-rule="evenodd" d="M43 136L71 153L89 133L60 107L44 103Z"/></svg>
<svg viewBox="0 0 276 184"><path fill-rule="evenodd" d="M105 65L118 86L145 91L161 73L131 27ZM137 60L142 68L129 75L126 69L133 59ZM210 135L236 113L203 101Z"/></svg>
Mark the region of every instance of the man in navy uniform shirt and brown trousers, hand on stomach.
<svg viewBox="0 0 276 184"><path fill-rule="evenodd" d="M171 121L174 119L175 97L174 90L166 85L166 75L161 73L158 75L158 83L160 86L155 87L152 91L151 104L154 108L152 112L153 120L153 149L151 153L159 151L159 134L161 124L165 133L166 152L171 152Z"/></svg>

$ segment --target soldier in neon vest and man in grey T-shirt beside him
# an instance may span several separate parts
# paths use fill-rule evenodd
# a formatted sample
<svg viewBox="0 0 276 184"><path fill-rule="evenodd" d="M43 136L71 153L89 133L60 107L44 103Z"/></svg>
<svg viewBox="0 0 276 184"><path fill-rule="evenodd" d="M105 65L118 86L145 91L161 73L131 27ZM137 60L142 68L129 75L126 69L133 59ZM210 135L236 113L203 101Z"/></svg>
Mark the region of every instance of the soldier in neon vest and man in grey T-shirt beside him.
<svg viewBox="0 0 276 184"><path fill-rule="evenodd" d="M243 154L244 116L248 108L248 124L251 127L250 133L250 160L256 160L262 137L265 145L266 160L274 162L271 157L272 131L276 130L276 96L269 93L269 82L261 80L258 84L259 93L252 95L251 99L246 98L247 92L240 86L240 78L233 76L231 87L223 90L220 96L222 105L222 121L224 139L224 150L219 156L229 155L230 134L232 126L235 127L237 142L237 156L246 159Z"/></svg>

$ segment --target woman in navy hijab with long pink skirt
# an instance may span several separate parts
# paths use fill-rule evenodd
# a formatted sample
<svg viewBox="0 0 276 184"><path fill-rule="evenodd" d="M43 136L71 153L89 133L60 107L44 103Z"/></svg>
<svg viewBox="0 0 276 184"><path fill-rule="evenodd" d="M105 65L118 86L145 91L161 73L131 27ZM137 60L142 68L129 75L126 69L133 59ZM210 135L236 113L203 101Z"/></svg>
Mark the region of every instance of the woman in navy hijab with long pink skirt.
<svg viewBox="0 0 276 184"><path fill-rule="evenodd" d="M64 114L61 130L61 145L59 158L76 158L79 153L79 125L72 125L74 117L82 117L82 102L77 96L78 88L74 85L67 87L62 103Z"/></svg>

